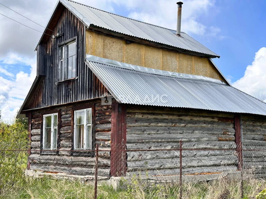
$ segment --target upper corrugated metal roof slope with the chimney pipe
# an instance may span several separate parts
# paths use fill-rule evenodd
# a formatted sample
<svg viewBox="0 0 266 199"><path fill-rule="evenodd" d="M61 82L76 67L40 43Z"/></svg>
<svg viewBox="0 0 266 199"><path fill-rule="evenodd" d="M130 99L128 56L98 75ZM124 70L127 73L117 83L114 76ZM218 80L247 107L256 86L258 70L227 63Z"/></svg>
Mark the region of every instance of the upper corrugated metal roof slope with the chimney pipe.
<svg viewBox="0 0 266 199"><path fill-rule="evenodd" d="M88 27L93 24L111 31L206 54L210 57L220 57L184 32L181 32L181 37L178 37L175 31L171 29L116 15L74 1L60 0L60 2L76 14Z"/></svg>

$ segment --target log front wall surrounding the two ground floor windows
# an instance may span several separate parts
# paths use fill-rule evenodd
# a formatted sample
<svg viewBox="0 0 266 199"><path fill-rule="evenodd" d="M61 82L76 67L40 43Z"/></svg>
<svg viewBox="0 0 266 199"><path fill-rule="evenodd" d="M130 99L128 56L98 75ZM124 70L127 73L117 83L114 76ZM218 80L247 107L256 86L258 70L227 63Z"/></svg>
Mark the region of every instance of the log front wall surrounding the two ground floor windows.
<svg viewBox="0 0 266 199"><path fill-rule="evenodd" d="M99 176L110 176L110 135L111 135L111 105L102 106L101 101L80 103L80 109L86 106L92 106L94 112L94 132L93 143L99 143ZM77 106L76 104L74 106ZM75 109L78 109L78 106ZM43 114L59 113L58 121L58 149L59 152L45 152L41 149L41 135ZM72 106L59 106L53 109L46 109L32 113L32 130L31 130L31 155L29 157L30 169L48 171L48 172L65 172L75 175L94 175L95 158L85 155L72 155ZM107 151L102 151L107 150Z"/></svg>

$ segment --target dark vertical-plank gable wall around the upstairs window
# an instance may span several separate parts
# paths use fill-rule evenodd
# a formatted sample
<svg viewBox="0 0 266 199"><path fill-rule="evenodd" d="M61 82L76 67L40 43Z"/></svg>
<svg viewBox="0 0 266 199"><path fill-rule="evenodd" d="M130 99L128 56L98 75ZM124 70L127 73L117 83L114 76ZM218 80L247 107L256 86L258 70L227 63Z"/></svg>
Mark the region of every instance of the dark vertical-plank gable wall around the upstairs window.
<svg viewBox="0 0 266 199"><path fill-rule="evenodd" d="M84 62L85 26L82 22L69 10L64 9L53 31L55 34L58 32L64 33L64 35L53 40L49 38L45 44L40 44L37 48L38 62L40 62L37 64L39 75L43 75L45 72L45 77L23 110L97 98L107 92L103 84ZM77 37L77 79L56 84L58 82L59 56L57 44L73 37Z"/></svg>

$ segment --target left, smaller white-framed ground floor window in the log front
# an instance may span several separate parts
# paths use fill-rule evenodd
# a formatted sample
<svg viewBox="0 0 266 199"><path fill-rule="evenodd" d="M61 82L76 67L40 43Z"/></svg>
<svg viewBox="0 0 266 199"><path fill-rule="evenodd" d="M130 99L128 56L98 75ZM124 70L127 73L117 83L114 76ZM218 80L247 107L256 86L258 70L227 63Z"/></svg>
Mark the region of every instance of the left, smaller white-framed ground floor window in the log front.
<svg viewBox="0 0 266 199"><path fill-rule="evenodd" d="M57 113L43 115L43 149L57 148Z"/></svg>

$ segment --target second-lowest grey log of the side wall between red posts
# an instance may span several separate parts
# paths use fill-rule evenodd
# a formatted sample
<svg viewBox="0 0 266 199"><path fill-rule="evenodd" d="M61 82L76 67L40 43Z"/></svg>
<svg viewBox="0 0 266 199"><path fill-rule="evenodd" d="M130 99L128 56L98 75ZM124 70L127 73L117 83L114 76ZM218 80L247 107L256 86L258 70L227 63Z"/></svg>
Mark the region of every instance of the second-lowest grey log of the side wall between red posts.
<svg viewBox="0 0 266 199"><path fill-rule="evenodd" d="M182 167L201 167L201 166L225 166L237 165L238 159L235 155L220 155L206 157L186 157L182 159ZM128 171L145 171L179 168L179 158L175 159L151 159L142 161L127 162Z"/></svg>

